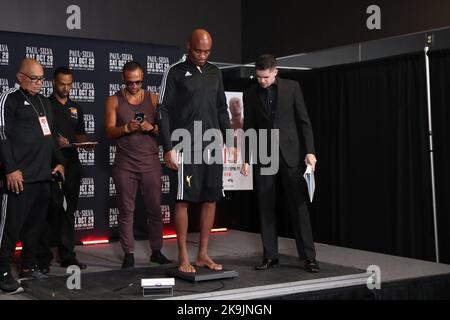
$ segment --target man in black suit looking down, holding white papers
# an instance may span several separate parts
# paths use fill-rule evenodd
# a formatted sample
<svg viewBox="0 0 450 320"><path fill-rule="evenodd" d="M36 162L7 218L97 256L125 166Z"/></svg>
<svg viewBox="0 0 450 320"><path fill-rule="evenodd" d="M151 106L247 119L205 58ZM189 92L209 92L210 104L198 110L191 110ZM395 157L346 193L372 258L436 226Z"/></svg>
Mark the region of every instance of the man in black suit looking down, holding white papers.
<svg viewBox="0 0 450 320"><path fill-rule="evenodd" d="M258 84L253 84L244 93L244 130L278 129L280 149L277 173L265 175L260 159L256 162L255 185L264 260L255 268L266 270L278 264L275 204L277 180L281 179L299 258L305 260L307 271L319 272L306 205L308 193L302 178L305 165L311 165L314 170L317 160L312 126L302 91L297 82L277 77L278 69L273 55L258 57L255 69ZM275 150L278 153L278 149ZM248 156L246 159L241 168L243 175L248 174Z"/></svg>

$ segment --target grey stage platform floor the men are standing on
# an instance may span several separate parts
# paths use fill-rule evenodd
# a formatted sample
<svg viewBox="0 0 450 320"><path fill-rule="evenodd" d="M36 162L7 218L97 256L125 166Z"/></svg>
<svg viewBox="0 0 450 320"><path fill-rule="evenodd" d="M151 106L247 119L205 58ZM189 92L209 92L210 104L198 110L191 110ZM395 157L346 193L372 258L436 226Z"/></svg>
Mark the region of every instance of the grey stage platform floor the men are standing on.
<svg viewBox="0 0 450 320"><path fill-rule="evenodd" d="M198 234L189 234L189 253L195 261ZM140 280L169 277L166 269L149 263L147 241L136 241L136 268L121 270L118 242L77 247L78 258L88 265L81 272L81 289L69 290L66 270L54 264L50 277L23 281L25 293L0 300L253 300L253 299L448 299L450 265L437 264L316 243L321 272L306 272L296 257L295 242L280 238L280 264L254 270L261 262L259 234L230 230L211 235L210 255L239 277L193 283L175 279L173 296L143 297ZM176 240L165 240L163 252L177 258ZM381 288L369 289L369 266L381 271ZM373 268L373 267L372 267Z"/></svg>

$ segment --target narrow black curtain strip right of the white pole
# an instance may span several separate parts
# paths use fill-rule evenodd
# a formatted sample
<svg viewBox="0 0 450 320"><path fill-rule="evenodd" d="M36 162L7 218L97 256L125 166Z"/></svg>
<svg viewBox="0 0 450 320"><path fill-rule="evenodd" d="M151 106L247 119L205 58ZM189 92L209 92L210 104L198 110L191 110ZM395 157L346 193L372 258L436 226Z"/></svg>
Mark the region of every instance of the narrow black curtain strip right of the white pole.
<svg viewBox="0 0 450 320"><path fill-rule="evenodd" d="M450 263L450 50L429 57L439 254Z"/></svg>

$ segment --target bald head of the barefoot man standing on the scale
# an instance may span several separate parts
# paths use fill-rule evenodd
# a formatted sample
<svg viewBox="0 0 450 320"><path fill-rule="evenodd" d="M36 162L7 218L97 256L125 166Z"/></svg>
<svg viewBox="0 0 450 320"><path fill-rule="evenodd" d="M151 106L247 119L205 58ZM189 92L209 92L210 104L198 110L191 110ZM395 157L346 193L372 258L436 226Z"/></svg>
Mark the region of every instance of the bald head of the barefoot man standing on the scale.
<svg viewBox="0 0 450 320"><path fill-rule="evenodd" d="M212 37L204 29L195 29L186 47L191 62L197 66L203 66L211 53Z"/></svg>

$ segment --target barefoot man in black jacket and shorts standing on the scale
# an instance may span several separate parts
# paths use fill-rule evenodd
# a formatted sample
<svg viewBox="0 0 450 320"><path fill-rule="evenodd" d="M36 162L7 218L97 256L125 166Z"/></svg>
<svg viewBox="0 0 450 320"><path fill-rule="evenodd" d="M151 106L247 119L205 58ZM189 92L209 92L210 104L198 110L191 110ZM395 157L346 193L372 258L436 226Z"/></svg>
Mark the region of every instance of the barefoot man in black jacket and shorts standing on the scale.
<svg viewBox="0 0 450 320"><path fill-rule="evenodd" d="M224 134L230 128L222 75L217 67L207 62L211 47L212 38L206 30L193 31L187 44L188 54L165 71L158 103L164 160L167 167L178 171L175 229L181 272L196 272L189 262L186 246L189 203L201 204L200 247L195 264L212 270L222 269L208 256L216 201L223 195L222 164L214 163L214 156L219 155L206 150L202 137L198 136L209 129L221 130ZM194 130L199 127L201 130ZM171 141L176 129L190 134L190 150L177 154Z"/></svg>

